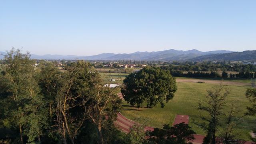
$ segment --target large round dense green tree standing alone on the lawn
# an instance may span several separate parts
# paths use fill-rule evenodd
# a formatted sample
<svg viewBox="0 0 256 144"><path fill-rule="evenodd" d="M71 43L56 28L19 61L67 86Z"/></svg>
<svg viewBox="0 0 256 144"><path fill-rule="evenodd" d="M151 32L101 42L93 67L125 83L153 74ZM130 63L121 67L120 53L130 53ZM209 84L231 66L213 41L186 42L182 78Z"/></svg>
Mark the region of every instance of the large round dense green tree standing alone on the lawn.
<svg viewBox="0 0 256 144"><path fill-rule="evenodd" d="M176 80L169 71L146 67L126 76L121 92L132 106L137 104L138 108L143 108L146 104L152 108L160 103L163 108L164 102L171 100L176 90Z"/></svg>

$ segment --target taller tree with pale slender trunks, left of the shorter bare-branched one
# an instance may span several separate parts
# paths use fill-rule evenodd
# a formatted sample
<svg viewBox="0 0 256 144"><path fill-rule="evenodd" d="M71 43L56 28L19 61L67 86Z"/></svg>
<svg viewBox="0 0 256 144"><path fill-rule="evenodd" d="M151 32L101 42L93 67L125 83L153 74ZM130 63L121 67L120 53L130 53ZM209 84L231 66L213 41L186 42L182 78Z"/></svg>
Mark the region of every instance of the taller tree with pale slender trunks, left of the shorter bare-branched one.
<svg viewBox="0 0 256 144"><path fill-rule="evenodd" d="M94 86L91 79L98 78L98 75L90 73L89 69L89 63L78 61L68 66L58 80L60 85L57 87L54 121L64 143L68 143L68 135L70 142L74 144L74 139L87 118L86 104Z"/></svg>

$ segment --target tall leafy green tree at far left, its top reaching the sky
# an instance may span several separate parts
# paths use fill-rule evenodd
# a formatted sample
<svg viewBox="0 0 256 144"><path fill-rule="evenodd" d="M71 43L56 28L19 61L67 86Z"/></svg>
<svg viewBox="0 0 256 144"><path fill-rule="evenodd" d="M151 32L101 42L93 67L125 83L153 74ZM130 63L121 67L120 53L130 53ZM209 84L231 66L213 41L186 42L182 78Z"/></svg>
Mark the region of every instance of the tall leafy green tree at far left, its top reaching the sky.
<svg viewBox="0 0 256 144"><path fill-rule="evenodd" d="M30 60L28 52L22 54L15 49L7 52L4 61L6 66L0 78L1 101L8 102L4 108L4 125L20 132L20 143L24 143L24 136L28 142L40 142L46 118L45 102L35 78L35 62Z"/></svg>

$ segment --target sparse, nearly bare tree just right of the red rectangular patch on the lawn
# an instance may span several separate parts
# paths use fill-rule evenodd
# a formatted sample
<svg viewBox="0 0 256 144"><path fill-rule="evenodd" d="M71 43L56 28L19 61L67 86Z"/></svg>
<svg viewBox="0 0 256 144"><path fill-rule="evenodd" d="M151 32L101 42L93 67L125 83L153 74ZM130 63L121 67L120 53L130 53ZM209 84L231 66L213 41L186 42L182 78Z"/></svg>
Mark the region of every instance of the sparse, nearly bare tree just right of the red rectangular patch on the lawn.
<svg viewBox="0 0 256 144"><path fill-rule="evenodd" d="M220 84L207 92L205 102L199 102L198 106L199 110L209 114L209 117L201 116L202 120L207 122L207 124L201 125L207 131L204 144L216 144L216 132L220 126L220 118L223 116L223 108L230 91Z"/></svg>

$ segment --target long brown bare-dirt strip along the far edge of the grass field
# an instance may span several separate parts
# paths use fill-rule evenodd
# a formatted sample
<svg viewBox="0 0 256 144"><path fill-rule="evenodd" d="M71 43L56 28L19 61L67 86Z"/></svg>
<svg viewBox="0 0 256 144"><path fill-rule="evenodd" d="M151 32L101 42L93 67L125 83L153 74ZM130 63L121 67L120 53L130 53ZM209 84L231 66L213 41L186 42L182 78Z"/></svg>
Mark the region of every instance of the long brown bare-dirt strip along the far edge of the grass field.
<svg viewBox="0 0 256 144"><path fill-rule="evenodd" d="M185 79L185 78L176 78L176 82L204 82L206 84L222 84L224 85L236 85L236 86L250 86L248 83L244 82L232 82L232 81L222 81L222 80L201 80L201 79Z"/></svg>

